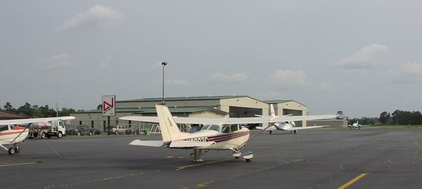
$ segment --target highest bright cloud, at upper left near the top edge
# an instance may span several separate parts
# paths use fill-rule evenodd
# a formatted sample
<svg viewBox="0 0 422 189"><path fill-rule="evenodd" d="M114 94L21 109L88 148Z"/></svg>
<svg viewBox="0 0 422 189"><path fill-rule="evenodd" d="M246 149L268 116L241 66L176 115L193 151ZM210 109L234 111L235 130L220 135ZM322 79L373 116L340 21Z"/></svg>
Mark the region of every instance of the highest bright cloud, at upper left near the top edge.
<svg viewBox="0 0 422 189"><path fill-rule="evenodd" d="M113 27L123 20L124 15L113 8L96 5L88 11L79 13L76 17L70 18L63 25L58 27L58 32L75 32L78 30L89 30L93 28Z"/></svg>

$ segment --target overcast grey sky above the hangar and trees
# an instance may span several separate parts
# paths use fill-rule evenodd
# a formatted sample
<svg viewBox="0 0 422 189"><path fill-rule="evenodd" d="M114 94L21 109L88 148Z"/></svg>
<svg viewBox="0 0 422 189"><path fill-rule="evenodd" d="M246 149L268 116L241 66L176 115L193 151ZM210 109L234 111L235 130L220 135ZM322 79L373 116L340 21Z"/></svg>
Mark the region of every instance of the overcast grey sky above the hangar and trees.
<svg viewBox="0 0 422 189"><path fill-rule="evenodd" d="M309 115L422 110L421 1L0 0L0 104L293 99Z"/></svg>

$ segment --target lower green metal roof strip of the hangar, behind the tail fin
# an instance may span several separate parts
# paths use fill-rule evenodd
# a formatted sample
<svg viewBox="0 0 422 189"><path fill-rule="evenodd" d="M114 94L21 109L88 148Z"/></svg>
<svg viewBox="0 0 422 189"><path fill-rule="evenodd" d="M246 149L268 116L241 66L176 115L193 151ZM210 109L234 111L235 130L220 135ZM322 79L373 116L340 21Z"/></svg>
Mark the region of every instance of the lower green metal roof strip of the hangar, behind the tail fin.
<svg viewBox="0 0 422 189"><path fill-rule="evenodd" d="M227 114L227 112L224 112L222 110L217 110L215 107L169 107L170 112L172 113L194 113L194 112L205 112L205 111L212 111L217 112L220 114ZM73 112L72 114L77 113L101 113L101 110L89 110L89 111L83 111L83 112ZM135 114L151 114L156 113L157 110L155 107L142 107L142 108L119 108L116 109L116 113L119 112L129 112L129 113L135 113Z"/></svg>

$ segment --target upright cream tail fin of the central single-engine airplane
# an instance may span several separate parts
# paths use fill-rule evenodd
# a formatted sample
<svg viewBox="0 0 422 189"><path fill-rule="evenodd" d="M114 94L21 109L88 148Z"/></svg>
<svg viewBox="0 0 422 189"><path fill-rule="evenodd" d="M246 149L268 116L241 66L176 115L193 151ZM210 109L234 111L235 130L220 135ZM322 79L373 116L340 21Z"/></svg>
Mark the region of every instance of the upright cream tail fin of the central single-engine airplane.
<svg viewBox="0 0 422 189"><path fill-rule="evenodd" d="M162 141L174 141L182 136L169 108L166 105L155 105L155 108L157 109L158 122L160 123Z"/></svg>

